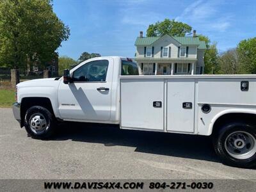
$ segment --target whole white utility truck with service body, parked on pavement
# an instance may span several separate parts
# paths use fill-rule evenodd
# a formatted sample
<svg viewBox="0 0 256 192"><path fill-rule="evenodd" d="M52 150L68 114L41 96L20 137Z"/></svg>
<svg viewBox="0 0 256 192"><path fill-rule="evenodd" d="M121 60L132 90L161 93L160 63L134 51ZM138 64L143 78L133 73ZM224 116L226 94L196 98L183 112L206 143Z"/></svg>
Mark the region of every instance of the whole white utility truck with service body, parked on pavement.
<svg viewBox="0 0 256 192"><path fill-rule="evenodd" d="M51 136L60 121L119 124L212 136L224 163L256 165L254 75L140 76L130 59L92 58L61 78L17 84L13 114L33 138Z"/></svg>

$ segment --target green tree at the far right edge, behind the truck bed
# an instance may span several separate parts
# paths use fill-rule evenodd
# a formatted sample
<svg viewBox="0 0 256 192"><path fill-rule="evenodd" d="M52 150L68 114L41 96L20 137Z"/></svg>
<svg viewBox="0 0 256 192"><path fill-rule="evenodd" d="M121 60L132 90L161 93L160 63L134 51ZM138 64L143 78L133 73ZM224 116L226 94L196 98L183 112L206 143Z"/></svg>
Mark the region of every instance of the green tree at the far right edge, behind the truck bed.
<svg viewBox="0 0 256 192"><path fill-rule="evenodd" d="M239 42L237 52L244 72L256 74L256 37Z"/></svg>

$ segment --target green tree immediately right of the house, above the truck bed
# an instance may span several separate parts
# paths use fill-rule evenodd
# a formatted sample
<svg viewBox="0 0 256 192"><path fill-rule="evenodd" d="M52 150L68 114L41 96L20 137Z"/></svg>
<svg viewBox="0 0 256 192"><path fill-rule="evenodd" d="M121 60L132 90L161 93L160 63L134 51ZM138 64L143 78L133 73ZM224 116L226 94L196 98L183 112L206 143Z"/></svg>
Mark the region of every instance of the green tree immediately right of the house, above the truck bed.
<svg viewBox="0 0 256 192"><path fill-rule="evenodd" d="M211 40L208 36L198 35L200 41L205 41L206 50L204 52L204 73L218 74L220 66L218 65L218 49L216 43L210 44Z"/></svg>

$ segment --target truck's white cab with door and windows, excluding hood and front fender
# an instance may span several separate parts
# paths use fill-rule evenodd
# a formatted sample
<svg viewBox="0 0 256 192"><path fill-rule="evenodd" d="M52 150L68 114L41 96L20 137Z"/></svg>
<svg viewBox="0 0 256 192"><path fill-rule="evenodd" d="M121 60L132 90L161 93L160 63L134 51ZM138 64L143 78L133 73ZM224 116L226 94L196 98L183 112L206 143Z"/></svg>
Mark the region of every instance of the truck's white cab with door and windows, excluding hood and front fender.
<svg viewBox="0 0 256 192"><path fill-rule="evenodd" d="M127 58L85 61L70 71L71 83L58 87L60 118L70 121L119 124L119 76L138 75Z"/></svg>

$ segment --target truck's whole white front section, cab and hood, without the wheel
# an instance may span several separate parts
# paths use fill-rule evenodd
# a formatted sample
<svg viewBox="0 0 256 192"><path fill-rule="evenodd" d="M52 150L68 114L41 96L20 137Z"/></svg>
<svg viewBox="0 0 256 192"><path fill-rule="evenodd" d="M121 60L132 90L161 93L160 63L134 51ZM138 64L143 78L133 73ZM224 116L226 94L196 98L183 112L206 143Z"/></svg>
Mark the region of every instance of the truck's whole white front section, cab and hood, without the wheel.
<svg viewBox="0 0 256 192"><path fill-rule="evenodd" d="M13 113L21 127L36 104L46 105L61 121L119 124L121 75L138 76L138 65L129 58L98 57L72 68L68 83L63 77L19 83Z"/></svg>

